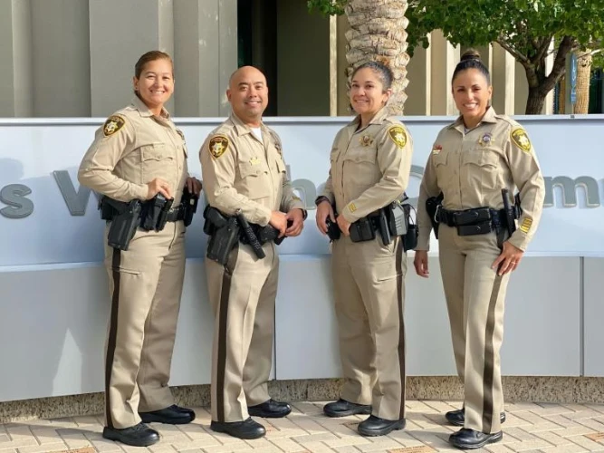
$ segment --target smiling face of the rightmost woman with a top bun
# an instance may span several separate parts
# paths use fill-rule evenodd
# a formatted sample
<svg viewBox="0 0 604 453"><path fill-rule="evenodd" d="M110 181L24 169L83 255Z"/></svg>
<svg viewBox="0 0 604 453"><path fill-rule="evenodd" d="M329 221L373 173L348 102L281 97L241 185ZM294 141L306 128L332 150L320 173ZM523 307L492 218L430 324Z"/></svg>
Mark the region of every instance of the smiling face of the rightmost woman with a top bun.
<svg viewBox="0 0 604 453"><path fill-rule="evenodd" d="M452 90L455 106L464 118L465 127L474 128L484 117L493 87L482 72L470 68L456 75Z"/></svg>

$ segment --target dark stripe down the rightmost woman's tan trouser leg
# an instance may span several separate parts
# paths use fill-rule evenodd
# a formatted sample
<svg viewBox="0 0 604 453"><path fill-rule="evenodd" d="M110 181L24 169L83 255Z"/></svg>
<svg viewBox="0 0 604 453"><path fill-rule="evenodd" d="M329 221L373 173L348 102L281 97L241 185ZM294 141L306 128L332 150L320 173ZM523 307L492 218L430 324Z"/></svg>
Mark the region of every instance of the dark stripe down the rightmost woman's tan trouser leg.
<svg viewBox="0 0 604 453"><path fill-rule="evenodd" d="M502 276L497 275L491 292L489 310L484 329L484 373L483 373L483 432L490 433L493 427L493 377L495 352L493 335L495 330L495 305L502 284Z"/></svg>

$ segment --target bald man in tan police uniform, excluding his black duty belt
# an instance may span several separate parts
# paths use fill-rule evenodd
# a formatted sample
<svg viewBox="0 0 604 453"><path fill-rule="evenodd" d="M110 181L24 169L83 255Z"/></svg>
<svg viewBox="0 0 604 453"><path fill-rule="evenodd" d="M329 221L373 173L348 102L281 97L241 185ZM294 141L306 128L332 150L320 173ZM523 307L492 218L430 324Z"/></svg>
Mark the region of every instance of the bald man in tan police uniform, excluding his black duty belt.
<svg viewBox="0 0 604 453"><path fill-rule="evenodd" d="M209 205L226 216L241 209L250 224L270 224L279 236L300 235L306 211L287 178L281 140L262 121L268 103L264 74L251 66L238 69L226 96L231 116L199 151ZM251 246L238 243L226 265L206 259L216 315L210 428L240 439L265 434L250 416L278 418L292 410L268 394L279 257L273 242L263 250L264 259L258 259Z"/></svg>

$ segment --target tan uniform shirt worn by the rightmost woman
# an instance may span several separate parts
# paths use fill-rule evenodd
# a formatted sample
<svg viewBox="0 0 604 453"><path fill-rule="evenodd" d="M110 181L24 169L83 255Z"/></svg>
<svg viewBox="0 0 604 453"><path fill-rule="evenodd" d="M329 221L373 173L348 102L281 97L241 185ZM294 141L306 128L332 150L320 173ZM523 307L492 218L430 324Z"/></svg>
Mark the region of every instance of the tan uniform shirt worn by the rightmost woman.
<svg viewBox="0 0 604 453"><path fill-rule="evenodd" d="M545 187L528 135L516 121L497 115L493 107L482 122L465 133L457 119L441 130L427 160L419 189L417 250L428 250L432 229L426 212L428 197L444 195L446 209L503 208L501 190L512 198L520 190L523 215L510 243L526 250L542 215ZM513 204L513 199L510 200Z"/></svg>

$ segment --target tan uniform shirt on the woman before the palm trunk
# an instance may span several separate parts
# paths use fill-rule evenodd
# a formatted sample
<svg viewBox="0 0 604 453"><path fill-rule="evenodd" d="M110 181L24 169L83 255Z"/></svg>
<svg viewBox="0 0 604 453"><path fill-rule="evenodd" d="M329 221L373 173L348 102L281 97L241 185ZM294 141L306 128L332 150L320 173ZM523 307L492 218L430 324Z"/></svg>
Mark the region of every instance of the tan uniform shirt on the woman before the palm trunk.
<svg viewBox="0 0 604 453"><path fill-rule="evenodd" d="M321 194L335 201L350 223L403 195L409 182L413 140L386 109L359 129L360 117L341 129L331 148L330 176Z"/></svg>

